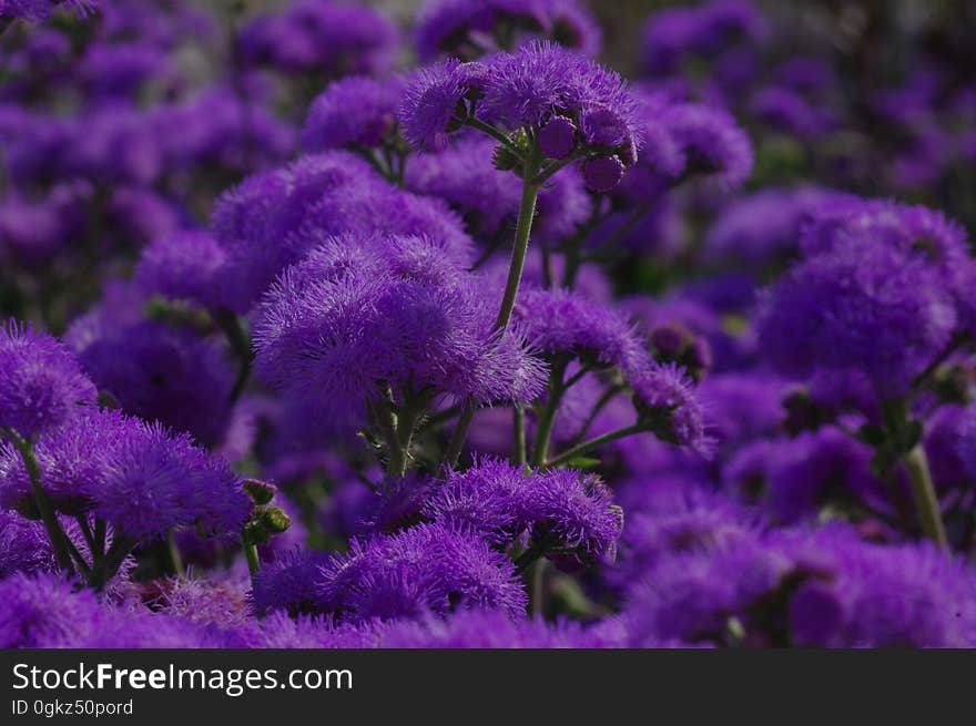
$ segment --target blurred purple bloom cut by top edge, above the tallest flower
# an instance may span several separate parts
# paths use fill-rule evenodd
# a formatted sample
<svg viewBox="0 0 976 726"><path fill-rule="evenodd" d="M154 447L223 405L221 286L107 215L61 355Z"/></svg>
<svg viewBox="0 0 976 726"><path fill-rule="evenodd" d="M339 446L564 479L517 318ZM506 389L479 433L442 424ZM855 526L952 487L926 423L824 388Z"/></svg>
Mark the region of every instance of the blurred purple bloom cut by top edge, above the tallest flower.
<svg viewBox="0 0 976 726"><path fill-rule="evenodd" d="M548 38L584 55L600 51L600 27L577 0L431 0L414 30L417 54L468 58Z"/></svg>

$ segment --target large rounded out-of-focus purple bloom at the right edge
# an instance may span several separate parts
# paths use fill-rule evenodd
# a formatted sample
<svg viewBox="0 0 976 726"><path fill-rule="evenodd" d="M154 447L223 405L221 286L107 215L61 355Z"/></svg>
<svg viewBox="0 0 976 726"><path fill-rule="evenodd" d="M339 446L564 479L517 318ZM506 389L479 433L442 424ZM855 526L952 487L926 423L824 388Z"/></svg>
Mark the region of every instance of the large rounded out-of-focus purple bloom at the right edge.
<svg viewBox="0 0 976 726"><path fill-rule="evenodd" d="M955 325L937 272L876 244L805 259L765 293L756 321L762 351L782 372L858 371L881 397L905 393Z"/></svg>

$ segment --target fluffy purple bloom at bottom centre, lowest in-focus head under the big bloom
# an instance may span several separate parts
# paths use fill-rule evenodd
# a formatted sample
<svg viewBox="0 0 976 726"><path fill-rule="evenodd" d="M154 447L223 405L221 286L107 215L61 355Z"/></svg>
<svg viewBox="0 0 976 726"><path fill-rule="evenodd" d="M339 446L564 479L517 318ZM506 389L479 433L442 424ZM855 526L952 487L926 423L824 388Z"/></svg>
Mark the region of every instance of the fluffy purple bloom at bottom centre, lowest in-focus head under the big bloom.
<svg viewBox="0 0 976 726"><path fill-rule="evenodd" d="M349 620L446 614L497 607L520 617L526 594L507 555L481 536L418 524L390 536L352 542L317 579L321 604Z"/></svg>

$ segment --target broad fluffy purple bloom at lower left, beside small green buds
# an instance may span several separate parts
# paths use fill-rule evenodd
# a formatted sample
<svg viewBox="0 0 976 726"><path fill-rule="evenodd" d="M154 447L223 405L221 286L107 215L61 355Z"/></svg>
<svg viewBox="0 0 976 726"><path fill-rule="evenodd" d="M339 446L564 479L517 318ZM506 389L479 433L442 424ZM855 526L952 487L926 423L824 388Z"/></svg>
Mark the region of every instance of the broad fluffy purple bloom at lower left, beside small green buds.
<svg viewBox="0 0 976 726"><path fill-rule="evenodd" d="M214 533L240 532L251 502L223 460L118 411L94 410L34 444L41 477L55 510L92 512L118 533L150 540L199 524ZM0 504L27 505L30 480L12 447L0 456Z"/></svg>

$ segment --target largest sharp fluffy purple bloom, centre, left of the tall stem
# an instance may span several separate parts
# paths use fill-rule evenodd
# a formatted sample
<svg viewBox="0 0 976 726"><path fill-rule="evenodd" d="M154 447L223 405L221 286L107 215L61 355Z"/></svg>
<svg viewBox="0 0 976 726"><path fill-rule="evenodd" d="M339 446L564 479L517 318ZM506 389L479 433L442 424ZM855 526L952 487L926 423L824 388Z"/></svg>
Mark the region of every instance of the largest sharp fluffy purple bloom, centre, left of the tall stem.
<svg viewBox="0 0 976 726"><path fill-rule="evenodd" d="M327 407L342 426L392 389L482 403L531 400L542 366L497 338L494 293L421 237L345 235L288 268L254 324L255 370Z"/></svg>

